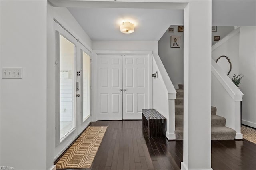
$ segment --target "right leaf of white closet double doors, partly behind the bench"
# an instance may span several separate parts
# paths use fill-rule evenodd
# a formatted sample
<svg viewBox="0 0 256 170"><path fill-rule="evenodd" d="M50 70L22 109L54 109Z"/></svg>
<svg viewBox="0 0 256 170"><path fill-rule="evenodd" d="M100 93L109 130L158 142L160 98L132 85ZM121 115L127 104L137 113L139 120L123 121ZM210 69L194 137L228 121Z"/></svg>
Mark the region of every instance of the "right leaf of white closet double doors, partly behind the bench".
<svg viewBox="0 0 256 170"><path fill-rule="evenodd" d="M142 119L148 108L148 57L125 55L123 58L123 119Z"/></svg>

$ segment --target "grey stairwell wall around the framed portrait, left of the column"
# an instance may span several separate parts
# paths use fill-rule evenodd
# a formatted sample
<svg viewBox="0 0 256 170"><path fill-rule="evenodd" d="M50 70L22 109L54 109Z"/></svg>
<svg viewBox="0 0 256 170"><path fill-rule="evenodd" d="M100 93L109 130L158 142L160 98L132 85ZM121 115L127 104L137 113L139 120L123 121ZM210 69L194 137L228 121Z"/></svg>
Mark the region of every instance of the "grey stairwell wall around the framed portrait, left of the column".
<svg viewBox="0 0 256 170"><path fill-rule="evenodd" d="M174 32L168 32L158 41L158 54L176 89L183 84L183 32L178 32L178 26L170 26ZM180 48L171 48L171 36L180 36Z"/></svg>

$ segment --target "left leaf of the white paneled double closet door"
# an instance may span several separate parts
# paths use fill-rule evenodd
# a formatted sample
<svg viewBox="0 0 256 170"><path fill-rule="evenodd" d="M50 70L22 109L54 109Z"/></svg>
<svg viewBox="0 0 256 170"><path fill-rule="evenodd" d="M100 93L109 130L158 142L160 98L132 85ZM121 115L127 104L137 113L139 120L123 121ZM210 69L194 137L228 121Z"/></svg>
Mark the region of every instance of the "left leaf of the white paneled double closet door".
<svg viewBox="0 0 256 170"><path fill-rule="evenodd" d="M98 56L99 120L122 120L122 57Z"/></svg>

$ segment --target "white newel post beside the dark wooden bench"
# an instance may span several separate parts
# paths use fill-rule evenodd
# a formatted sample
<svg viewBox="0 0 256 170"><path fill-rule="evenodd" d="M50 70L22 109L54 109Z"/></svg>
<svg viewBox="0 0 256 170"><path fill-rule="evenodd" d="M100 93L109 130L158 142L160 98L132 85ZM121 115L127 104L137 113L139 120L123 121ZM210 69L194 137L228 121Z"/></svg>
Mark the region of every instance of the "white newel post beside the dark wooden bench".
<svg viewBox="0 0 256 170"><path fill-rule="evenodd" d="M175 99L176 93L168 93L169 129L166 132L168 140L175 140Z"/></svg>

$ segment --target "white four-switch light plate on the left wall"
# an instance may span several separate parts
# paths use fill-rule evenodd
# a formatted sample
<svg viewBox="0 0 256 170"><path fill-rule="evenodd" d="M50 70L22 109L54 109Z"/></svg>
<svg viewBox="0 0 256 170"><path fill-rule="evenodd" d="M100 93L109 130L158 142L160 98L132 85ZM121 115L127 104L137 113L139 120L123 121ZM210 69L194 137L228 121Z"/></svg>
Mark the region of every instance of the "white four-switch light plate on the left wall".
<svg viewBox="0 0 256 170"><path fill-rule="evenodd" d="M2 79L22 79L22 68L3 68Z"/></svg>

